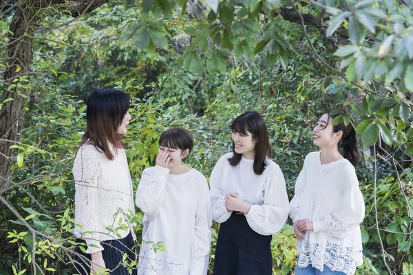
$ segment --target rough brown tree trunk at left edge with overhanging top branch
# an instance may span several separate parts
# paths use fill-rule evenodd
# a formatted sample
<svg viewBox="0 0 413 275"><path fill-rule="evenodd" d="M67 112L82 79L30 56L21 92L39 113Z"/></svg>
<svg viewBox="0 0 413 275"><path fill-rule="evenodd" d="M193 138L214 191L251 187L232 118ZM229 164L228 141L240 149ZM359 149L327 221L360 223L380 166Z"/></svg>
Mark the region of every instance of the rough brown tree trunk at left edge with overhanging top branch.
<svg viewBox="0 0 413 275"><path fill-rule="evenodd" d="M17 141L19 120L23 115L27 103L28 89L10 87L19 83L21 76L27 76L22 85L28 85L30 65L33 59L33 32L41 18L40 9L52 6L58 10L69 10L72 17L79 17L87 12L92 12L108 0L21 0L14 4L13 18L8 34L8 68L4 72L4 85L0 109L0 193L10 180L10 168L14 162L14 150L10 149ZM13 2L14 3L14 2ZM1 5L1 8L4 8ZM43 13L47 16L47 12ZM13 82L17 81L17 82ZM8 98L12 101L4 102Z"/></svg>

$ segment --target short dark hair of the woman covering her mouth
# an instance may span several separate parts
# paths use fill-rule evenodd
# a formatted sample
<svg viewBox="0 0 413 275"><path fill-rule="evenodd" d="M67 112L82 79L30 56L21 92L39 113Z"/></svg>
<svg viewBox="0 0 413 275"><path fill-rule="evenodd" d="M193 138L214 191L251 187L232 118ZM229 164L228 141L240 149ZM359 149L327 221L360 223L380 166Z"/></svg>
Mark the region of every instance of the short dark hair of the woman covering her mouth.
<svg viewBox="0 0 413 275"><path fill-rule="evenodd" d="M168 129L160 135L159 145L180 149L182 151L189 149L189 155L193 148L193 139L187 130L180 127L175 127Z"/></svg>

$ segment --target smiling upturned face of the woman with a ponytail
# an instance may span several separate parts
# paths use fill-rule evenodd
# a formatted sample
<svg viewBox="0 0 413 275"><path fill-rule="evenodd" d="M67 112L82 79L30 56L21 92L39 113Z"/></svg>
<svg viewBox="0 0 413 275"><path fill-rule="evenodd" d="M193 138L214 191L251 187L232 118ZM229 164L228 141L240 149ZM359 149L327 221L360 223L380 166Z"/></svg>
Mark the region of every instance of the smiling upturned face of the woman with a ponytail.
<svg viewBox="0 0 413 275"><path fill-rule="evenodd" d="M317 125L313 129L314 140L313 143L319 147L331 147L336 146L341 139L342 131L333 133L332 131L332 118L328 113L324 113L321 116Z"/></svg>

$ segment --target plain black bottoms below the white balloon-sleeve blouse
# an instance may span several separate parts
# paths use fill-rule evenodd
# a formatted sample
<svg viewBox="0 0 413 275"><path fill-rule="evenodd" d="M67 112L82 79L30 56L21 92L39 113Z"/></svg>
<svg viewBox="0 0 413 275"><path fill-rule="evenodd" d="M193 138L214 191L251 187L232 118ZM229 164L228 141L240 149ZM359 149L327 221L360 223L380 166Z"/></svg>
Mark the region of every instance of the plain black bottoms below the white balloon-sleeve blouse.
<svg viewBox="0 0 413 275"><path fill-rule="evenodd" d="M273 274L271 239L252 230L243 214L231 214L218 232L213 275Z"/></svg>

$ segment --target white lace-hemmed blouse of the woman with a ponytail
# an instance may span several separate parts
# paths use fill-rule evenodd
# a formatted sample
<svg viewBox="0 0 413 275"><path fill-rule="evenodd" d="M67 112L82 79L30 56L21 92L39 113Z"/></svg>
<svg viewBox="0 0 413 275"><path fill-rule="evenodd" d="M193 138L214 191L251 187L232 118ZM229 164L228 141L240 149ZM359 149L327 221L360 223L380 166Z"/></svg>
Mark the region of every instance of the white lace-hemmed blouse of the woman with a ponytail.
<svg viewBox="0 0 413 275"><path fill-rule="evenodd" d="M360 223L364 201L354 166L347 159L321 164L320 152L309 153L295 184L290 217L313 221L313 232L297 241L299 267L354 274L363 263Z"/></svg>

